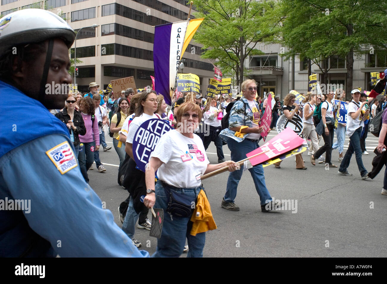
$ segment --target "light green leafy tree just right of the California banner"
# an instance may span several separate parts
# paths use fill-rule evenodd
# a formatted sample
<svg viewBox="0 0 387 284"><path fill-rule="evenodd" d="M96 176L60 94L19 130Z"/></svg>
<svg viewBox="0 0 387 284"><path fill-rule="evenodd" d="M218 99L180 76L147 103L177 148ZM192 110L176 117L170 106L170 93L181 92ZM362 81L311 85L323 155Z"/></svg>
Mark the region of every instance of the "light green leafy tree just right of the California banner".
<svg viewBox="0 0 387 284"><path fill-rule="evenodd" d="M202 58L218 59L217 64L235 72L236 85L243 81L245 60L263 54L257 43L272 41L280 21L271 17L274 1L197 0L195 17L204 17L194 39L209 48Z"/></svg>

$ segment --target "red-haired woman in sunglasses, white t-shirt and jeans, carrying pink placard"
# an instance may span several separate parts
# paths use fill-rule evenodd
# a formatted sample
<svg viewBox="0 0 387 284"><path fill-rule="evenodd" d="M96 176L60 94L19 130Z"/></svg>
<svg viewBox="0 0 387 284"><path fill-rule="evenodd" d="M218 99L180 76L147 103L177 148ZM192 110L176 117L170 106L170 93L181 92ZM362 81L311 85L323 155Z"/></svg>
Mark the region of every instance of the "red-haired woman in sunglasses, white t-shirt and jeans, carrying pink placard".
<svg viewBox="0 0 387 284"><path fill-rule="evenodd" d="M192 213L188 213L188 217L171 215L167 212L168 198L170 194L176 194L180 198L187 198L196 203L202 189L200 180L202 175L225 166L228 166L229 171L234 171L237 164L233 161L217 165L209 164L202 140L193 133L202 116L199 105L194 102L183 103L175 115L178 128L161 136L151 153L145 173L148 190L144 204L148 208L155 206L164 210L163 230L153 257L179 257L184 249L185 238L189 247L187 257L202 257L205 232L190 235L191 230L188 226L192 223L189 222L191 219L189 214ZM159 180L155 186L156 171ZM205 211L208 213L209 208Z"/></svg>

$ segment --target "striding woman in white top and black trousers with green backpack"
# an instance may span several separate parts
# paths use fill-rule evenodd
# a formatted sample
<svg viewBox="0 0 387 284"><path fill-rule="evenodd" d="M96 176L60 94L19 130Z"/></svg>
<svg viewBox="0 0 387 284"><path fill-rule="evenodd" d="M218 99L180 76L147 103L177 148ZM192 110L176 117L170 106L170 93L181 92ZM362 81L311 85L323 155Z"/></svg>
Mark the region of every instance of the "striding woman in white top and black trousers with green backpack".
<svg viewBox="0 0 387 284"><path fill-rule="evenodd" d="M325 152L325 165L329 164L329 167L337 168L337 166L332 164L332 162L330 161L332 158L332 145L334 136L333 126L335 123L335 109L332 104L333 96L333 92L330 92L326 95L327 99L325 100L325 102L321 103L321 119L322 123L324 124L324 131L322 133L322 137L324 138L325 144L321 146L320 149L312 155L312 159L316 160L320 158L320 156Z"/></svg>

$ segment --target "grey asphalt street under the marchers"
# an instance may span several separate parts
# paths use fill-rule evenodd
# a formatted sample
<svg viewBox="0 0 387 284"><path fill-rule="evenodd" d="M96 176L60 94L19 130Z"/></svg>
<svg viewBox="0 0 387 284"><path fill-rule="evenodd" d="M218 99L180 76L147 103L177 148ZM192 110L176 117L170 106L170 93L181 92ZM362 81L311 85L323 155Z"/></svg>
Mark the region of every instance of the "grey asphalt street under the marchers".
<svg viewBox="0 0 387 284"><path fill-rule="evenodd" d="M275 134L272 131L269 138ZM377 141L377 137L368 133L369 155L362 155L368 171L372 169ZM115 223L121 227L117 208L128 192L117 184L119 160L109 136L107 143L112 149L100 150L101 162L107 170L99 173L94 163L94 170L88 171L90 186L106 202L106 209L111 210ZM320 146L323 143L321 140ZM344 151L348 143L346 136ZM228 147L223 146L223 151L229 160ZM213 143L207 149L207 156L210 163L217 163ZM338 151L333 150L332 163L339 166L338 156ZM235 204L240 211L237 212L220 206L227 172L204 180L217 224L217 230L206 234L204 257L387 257L384 245L387 196L380 194L384 168L375 179L361 180L354 154L348 168L353 173L351 177L338 175L337 168L326 170L324 164L313 166L307 152L303 158L308 170L297 170L294 158L284 160L280 169L273 165L264 168L271 196L276 200L290 199L293 206L288 210L262 213L249 172L243 173L238 186ZM140 249L150 254L155 252L157 239L150 237L149 231L136 228L135 238L142 243Z"/></svg>

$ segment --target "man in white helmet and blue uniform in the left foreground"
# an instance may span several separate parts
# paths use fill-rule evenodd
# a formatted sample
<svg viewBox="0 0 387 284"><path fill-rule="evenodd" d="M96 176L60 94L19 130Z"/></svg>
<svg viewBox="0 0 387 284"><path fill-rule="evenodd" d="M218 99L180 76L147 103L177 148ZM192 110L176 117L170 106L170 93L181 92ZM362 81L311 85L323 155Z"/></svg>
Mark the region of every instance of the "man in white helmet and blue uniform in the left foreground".
<svg viewBox="0 0 387 284"><path fill-rule="evenodd" d="M0 19L0 32L0 257L148 256L102 208L65 124L48 111L65 105L74 31L25 9Z"/></svg>

